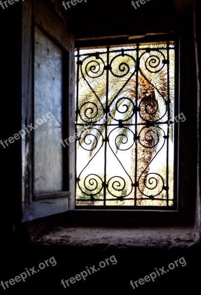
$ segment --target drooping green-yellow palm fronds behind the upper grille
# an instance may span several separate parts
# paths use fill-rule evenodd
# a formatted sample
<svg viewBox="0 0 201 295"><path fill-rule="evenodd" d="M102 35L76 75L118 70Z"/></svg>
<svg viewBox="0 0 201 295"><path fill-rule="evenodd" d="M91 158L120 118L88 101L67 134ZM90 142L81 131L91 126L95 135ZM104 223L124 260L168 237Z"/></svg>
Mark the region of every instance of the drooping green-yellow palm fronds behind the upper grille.
<svg viewBox="0 0 201 295"><path fill-rule="evenodd" d="M141 49L145 47L147 48L147 45L144 47L141 46ZM156 57L159 57L161 54L163 54L165 58L167 58L167 51L165 49L166 45L164 46L150 45L149 47L150 49L152 48L154 49L154 55ZM157 48L158 48L158 51L157 51ZM107 65L107 54L104 54L106 53L106 49L98 49L98 52L103 53L101 55L101 59L99 59L99 57L97 56L96 50L87 50L87 53L93 55L91 59L94 59L94 60L96 59L94 61L94 66L96 64L96 61L98 60L100 63L100 67L103 68L105 65ZM110 113L112 116L108 119L108 124L111 124L113 121L115 121L114 118L116 114L118 113L118 109L116 108L116 102L119 100L119 98L123 98L123 97L124 99L121 99L121 101L119 100L118 107L123 106L123 104L126 101L126 98L130 98L132 99L132 102L130 100L127 100L126 104L128 106L128 110L132 111L134 103L137 106L139 105L139 103L142 101L144 97L151 95L158 102L158 110L153 116L151 115L152 119L154 119L154 121L157 121L162 116L164 116L164 118L167 117L167 110L168 110L168 106L167 106L168 79L167 79L167 68L166 68L167 65L165 65L164 68L160 70L159 73L152 73L148 71L145 66L145 63L146 63L146 60L152 54L153 52L151 51L145 52L141 58L140 72L138 75L138 85L136 85L136 78L135 78L136 73L135 73L135 69L133 65L133 60L126 55L122 59L125 63L128 64L128 67L129 67L129 71L127 75L125 75L124 77L121 77L122 70L119 68L119 61L116 60L116 63L114 61L113 71L115 71L116 75L117 76L119 75L119 77L116 77L115 75L110 74L109 85L108 85L109 87L108 105L110 106ZM133 59L136 59L135 51L129 52L129 55L132 55ZM116 53L110 53L110 60L115 58L115 56L116 56ZM85 57L83 58L83 60L85 62ZM173 73L173 68L174 68L173 50L170 51L169 66L171 69L170 72ZM107 114L105 113L107 91L106 91L106 79L104 77L106 77L105 74L103 74L102 76L96 79L90 78L87 76L86 68L83 69L83 74L81 73L81 71L79 71L79 106L78 107L80 108L80 106L84 104L86 106L85 108L87 109L87 104L88 106L89 104L96 105L98 111L97 109L96 110L94 109L93 112L91 113L91 116L93 116L96 112L97 114L94 120L98 121L99 123L104 122L107 116ZM169 82L170 82L169 98L170 98L170 104L172 104L174 99L174 75L173 74L170 75ZM135 101L136 87L138 87L138 101ZM85 111L86 111L85 108L81 111L81 114L80 114L81 116L85 116ZM174 110L172 107L170 107L169 110L170 110L170 119L173 120ZM129 118L129 114L130 114L129 112L122 113L122 119L127 120ZM135 116L133 116L133 118L128 119L128 123L132 123L134 117ZM90 118L86 118L87 123L90 123L90 121L92 121ZM160 126L157 126L157 125L153 125L151 127L153 131L153 142L154 141L156 142L158 140L156 134L158 134L159 140L161 139L162 133L159 127ZM107 128L109 131L109 127ZM83 130L84 130L84 126L79 127L79 132L82 132ZM90 151L90 157L92 157L95 151L96 140L100 140L101 134L104 134L104 131L105 131L105 125L94 126L93 132L96 139L94 139L94 141L92 142L91 148L93 149ZM169 132L170 132L170 138L171 140L173 140L172 125L170 125ZM122 136L120 136L121 134ZM120 146L124 143L125 137L128 135L129 135L128 128L126 127L119 128L118 134L117 134L117 141L116 141L116 152L119 150ZM156 153L156 147L153 147L153 153Z"/></svg>

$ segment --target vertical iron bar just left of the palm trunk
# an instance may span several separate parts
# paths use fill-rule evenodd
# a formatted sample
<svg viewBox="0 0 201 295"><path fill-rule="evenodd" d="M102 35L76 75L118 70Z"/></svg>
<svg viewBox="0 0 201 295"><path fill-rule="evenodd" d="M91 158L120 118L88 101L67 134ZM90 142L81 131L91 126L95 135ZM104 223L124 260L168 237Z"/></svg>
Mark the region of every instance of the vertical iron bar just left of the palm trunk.
<svg viewBox="0 0 201 295"><path fill-rule="evenodd" d="M140 67L140 61L139 61L139 43L137 44L136 49L136 101L135 104L137 106L135 111L135 135L137 136L137 130L138 130L138 71ZM138 171L138 143L136 141L136 147L135 147L135 184L137 183L137 171ZM137 186L135 185L135 206L137 205Z"/></svg>

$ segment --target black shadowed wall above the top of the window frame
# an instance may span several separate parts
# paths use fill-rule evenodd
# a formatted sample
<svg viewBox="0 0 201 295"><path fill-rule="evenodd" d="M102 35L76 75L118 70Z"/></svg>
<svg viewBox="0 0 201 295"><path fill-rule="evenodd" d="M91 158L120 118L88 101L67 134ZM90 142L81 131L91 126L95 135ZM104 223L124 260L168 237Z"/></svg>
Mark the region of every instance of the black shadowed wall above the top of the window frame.
<svg viewBox="0 0 201 295"><path fill-rule="evenodd" d="M68 29L75 39L171 32L177 24L173 0L149 0L137 10L130 0L83 0L67 10L61 5L61 1L46 2L50 6L52 3L53 9L59 7L60 15L67 19Z"/></svg>

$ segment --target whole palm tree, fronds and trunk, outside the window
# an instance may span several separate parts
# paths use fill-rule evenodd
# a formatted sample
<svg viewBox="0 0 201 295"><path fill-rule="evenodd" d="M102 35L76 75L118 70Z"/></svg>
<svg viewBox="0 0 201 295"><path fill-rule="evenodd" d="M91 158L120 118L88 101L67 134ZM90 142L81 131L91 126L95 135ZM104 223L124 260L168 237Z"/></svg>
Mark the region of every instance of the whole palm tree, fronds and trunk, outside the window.
<svg viewBox="0 0 201 295"><path fill-rule="evenodd" d="M95 121L93 125L94 140L91 143L89 156L92 158L96 152L97 141L107 128L104 121L107 119L108 125L115 122L119 108L124 107L126 111L121 112L124 124L119 128L116 137L116 153L119 148L125 144L125 140L132 134L126 123L132 124L137 122L135 132L135 142L131 152L131 171L130 181L128 182L127 195L134 197L133 184L137 183L136 198L141 199L144 193L146 182L145 177L149 172L149 163L153 155L157 151L157 143L162 137L162 129L157 121L162 118L173 118L173 108L170 103L173 101L173 75L170 75L170 86L167 77L166 45L149 45L142 46L141 56L137 60L137 51L132 47L133 51L128 48L122 50L122 56L119 52L111 50L110 53L110 70L108 77L108 99L106 86L106 69L108 56L105 49L98 50L102 53L99 55L97 50L87 51L86 58L83 59L81 71L77 79L79 79L79 101L77 101L77 110L79 116L86 123ZM149 48L149 50L144 50ZM174 52L169 51L169 67L173 73ZM91 54L88 58L87 54ZM94 59L95 58L95 59ZM138 61L141 65L138 68ZM164 62L165 61L165 62ZM163 64L162 64L163 62ZM136 68L137 65L137 68ZM93 75L88 76L88 71ZM95 78L94 78L95 77ZM87 87L86 87L87 86ZM122 97L123 98L119 98ZM138 108L138 117L136 117L136 108ZM108 113L110 112L110 116ZM170 117L167 113L170 112ZM78 114L78 112L77 112ZM77 116L77 118L79 117ZM85 130L84 125L78 125L78 132L91 134L91 130ZM170 129L172 137L172 129ZM81 145L84 143L85 137L80 140ZM137 159L137 171L136 171ZM131 193L132 191L132 193ZM126 199L125 199L126 200ZM125 205L134 205L134 201L125 201ZM136 205L140 205L141 200Z"/></svg>

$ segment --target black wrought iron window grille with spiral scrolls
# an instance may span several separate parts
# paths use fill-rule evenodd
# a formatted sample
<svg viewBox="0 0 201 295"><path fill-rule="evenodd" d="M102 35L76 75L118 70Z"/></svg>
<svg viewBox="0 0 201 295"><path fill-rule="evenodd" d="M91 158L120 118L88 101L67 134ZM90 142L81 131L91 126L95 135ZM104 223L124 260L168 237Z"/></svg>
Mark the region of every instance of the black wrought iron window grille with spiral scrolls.
<svg viewBox="0 0 201 295"><path fill-rule="evenodd" d="M174 43L76 52L76 205L172 207Z"/></svg>

